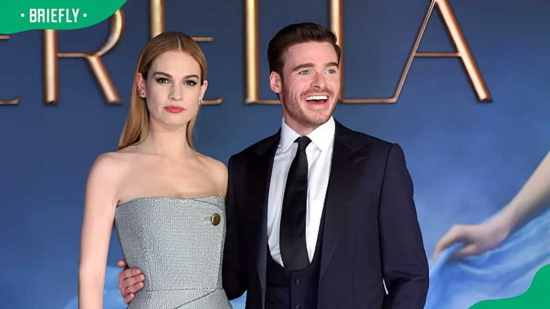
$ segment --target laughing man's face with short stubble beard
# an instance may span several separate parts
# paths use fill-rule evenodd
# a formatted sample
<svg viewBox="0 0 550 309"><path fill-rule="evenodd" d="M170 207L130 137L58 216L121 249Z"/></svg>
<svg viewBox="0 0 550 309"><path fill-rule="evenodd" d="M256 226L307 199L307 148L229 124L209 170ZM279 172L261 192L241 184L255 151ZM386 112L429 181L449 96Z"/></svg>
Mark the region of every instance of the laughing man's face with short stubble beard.
<svg viewBox="0 0 550 309"><path fill-rule="evenodd" d="M290 46L283 54L282 76L272 72L271 89L281 97L291 128L315 129L326 123L338 103L338 56L327 42ZM280 78L278 78L280 77Z"/></svg>

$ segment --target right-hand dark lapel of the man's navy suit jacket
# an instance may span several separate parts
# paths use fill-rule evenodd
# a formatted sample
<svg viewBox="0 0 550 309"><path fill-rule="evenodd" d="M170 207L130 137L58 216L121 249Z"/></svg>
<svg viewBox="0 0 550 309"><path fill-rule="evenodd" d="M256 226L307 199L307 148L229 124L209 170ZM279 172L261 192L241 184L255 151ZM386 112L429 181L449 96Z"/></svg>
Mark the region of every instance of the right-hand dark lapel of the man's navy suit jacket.
<svg viewBox="0 0 550 309"><path fill-rule="evenodd" d="M356 185L355 181L360 177L361 168L357 167L357 164L364 159L363 153L359 150L365 144L351 139L351 133L352 131L336 122L331 172L324 206L325 219L322 238L320 283L337 249L342 230L345 229L348 222L351 205L346 200L349 199L350 194L353 194L353 188Z"/></svg>

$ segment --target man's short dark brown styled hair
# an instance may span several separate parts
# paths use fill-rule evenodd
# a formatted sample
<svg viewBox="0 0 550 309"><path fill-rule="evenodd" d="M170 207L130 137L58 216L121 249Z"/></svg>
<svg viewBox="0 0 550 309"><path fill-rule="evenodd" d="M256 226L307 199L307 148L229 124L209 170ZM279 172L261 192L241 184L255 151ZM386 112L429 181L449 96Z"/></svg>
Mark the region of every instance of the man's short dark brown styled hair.
<svg viewBox="0 0 550 309"><path fill-rule="evenodd" d="M283 54L290 46L305 42L327 42L334 47L338 63L340 62L340 47L336 44L334 32L314 23L292 24L281 29L271 39L267 47L267 61L270 71L282 74Z"/></svg>

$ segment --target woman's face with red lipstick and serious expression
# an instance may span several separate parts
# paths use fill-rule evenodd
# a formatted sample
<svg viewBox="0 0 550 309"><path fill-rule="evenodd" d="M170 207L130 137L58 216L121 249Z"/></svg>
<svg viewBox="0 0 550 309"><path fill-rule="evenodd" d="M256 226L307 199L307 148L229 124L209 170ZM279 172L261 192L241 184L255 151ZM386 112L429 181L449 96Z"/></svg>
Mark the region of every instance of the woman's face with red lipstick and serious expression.
<svg viewBox="0 0 550 309"><path fill-rule="evenodd" d="M141 73L138 76L150 122L176 128L186 125L199 111L198 102L206 91L207 82L201 85L200 76L199 63L188 53L167 51L153 60L147 80Z"/></svg>

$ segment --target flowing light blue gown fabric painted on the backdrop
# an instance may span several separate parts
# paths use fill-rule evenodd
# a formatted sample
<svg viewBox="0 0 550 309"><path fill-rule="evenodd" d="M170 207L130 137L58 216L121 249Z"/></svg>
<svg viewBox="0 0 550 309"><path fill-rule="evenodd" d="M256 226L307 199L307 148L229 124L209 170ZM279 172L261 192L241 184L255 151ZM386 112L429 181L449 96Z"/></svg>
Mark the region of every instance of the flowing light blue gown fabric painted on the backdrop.
<svg viewBox="0 0 550 309"><path fill-rule="evenodd" d="M450 246L438 261L430 261L425 309L464 309L482 300L525 293L536 272L550 264L550 210L515 231L498 247L449 261L461 246Z"/></svg>

